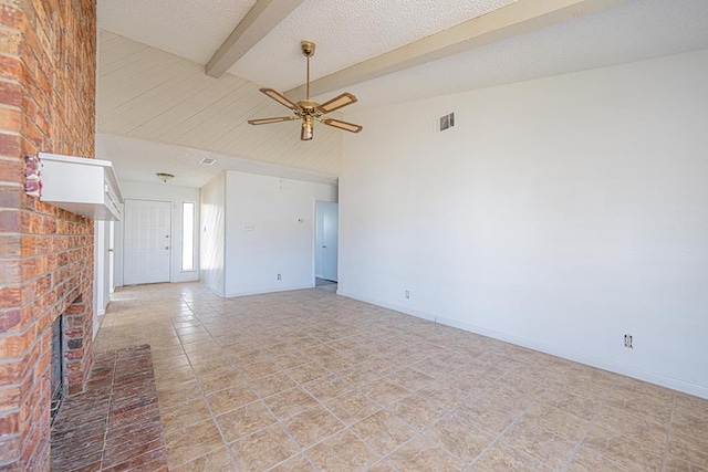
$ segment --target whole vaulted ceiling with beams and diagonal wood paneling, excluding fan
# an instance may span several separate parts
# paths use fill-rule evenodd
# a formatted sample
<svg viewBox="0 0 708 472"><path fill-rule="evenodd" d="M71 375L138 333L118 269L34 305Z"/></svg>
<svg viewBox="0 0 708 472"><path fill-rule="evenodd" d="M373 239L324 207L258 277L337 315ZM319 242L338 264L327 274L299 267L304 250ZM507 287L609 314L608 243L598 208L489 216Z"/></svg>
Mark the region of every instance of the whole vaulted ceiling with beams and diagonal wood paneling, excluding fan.
<svg viewBox="0 0 708 472"><path fill-rule="evenodd" d="M222 168L334 179L342 134L258 92L375 108L708 48L705 0L98 0L98 153L118 176L200 187ZM364 130L352 139L366 139ZM205 155L217 158L198 167ZM179 156L179 157L177 157ZM139 165L138 165L139 164ZM284 170L283 170L284 169ZM300 172L300 174L298 174ZM184 176L184 177L180 177Z"/></svg>

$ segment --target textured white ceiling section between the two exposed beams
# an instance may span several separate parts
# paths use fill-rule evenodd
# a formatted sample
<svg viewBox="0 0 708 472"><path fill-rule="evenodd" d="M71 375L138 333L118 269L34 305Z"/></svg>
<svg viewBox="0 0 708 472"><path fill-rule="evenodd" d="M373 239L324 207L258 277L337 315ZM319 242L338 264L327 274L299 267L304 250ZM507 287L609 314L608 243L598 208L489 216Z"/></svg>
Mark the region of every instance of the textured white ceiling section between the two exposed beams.
<svg viewBox="0 0 708 472"><path fill-rule="evenodd" d="M516 1L305 0L229 72L285 91L305 80L301 40L317 44L315 80Z"/></svg>

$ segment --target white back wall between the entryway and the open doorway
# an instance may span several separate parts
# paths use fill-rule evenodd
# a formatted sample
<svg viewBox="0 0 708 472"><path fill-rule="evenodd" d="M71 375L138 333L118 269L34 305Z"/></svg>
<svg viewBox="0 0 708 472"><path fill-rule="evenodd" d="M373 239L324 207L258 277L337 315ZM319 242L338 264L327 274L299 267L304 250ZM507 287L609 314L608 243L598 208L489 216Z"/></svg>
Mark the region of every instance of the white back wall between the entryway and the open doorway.
<svg viewBox="0 0 708 472"><path fill-rule="evenodd" d="M315 200L336 187L227 171L226 197L226 296L314 286Z"/></svg>

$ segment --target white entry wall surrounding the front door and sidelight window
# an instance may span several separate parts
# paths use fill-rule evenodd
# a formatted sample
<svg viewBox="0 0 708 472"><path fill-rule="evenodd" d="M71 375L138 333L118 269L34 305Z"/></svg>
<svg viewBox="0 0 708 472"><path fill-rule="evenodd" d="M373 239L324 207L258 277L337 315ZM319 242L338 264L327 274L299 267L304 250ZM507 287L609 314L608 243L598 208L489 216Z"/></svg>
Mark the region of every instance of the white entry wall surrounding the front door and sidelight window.
<svg viewBox="0 0 708 472"><path fill-rule="evenodd" d="M195 221L199 221L199 189L177 187L169 183L142 183L121 181L123 198L142 200L162 200L173 203L171 214L171 282L198 281L199 272L181 270L181 203L195 203L197 211ZM199 268L199 231L195 228L195 268ZM115 225L115 284L123 285L123 223Z"/></svg>

